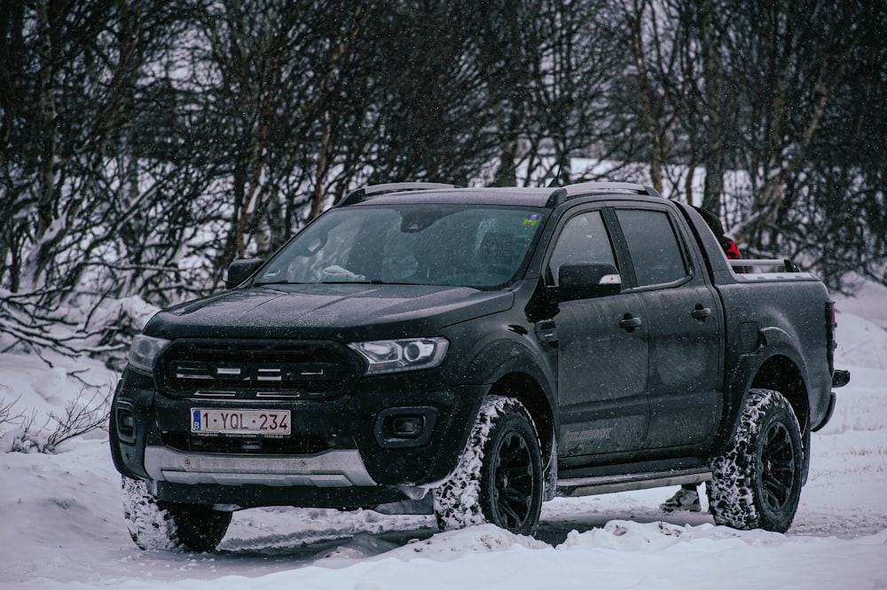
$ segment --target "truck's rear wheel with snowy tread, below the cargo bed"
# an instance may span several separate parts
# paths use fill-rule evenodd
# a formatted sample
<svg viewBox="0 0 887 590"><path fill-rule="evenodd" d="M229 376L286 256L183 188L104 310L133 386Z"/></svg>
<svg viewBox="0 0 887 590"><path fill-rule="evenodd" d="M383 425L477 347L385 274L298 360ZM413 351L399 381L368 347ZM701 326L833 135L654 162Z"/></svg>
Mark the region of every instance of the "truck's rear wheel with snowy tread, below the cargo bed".
<svg viewBox="0 0 887 590"><path fill-rule="evenodd" d="M706 485L715 523L787 531L801 496L804 452L788 400L778 391L752 389L734 440Z"/></svg>

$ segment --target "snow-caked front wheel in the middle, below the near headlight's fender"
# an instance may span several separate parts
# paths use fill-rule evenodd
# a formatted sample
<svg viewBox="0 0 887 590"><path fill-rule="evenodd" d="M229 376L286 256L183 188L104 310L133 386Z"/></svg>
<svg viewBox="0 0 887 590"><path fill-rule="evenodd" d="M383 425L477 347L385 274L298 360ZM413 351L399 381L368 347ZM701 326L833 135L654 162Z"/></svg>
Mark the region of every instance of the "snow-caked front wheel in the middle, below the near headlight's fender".
<svg viewBox="0 0 887 590"><path fill-rule="evenodd" d="M481 404L459 464L433 494L442 531L482 523L532 535L543 494L539 439L530 414L512 397Z"/></svg>

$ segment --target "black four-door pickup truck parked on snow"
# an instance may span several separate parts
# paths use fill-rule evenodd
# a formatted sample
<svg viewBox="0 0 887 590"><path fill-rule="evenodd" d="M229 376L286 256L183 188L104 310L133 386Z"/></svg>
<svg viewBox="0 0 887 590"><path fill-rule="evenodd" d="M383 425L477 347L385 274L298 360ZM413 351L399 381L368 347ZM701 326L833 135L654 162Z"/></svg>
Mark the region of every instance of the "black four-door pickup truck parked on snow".
<svg viewBox="0 0 887 590"><path fill-rule="evenodd" d="M369 186L228 287L155 315L117 387L140 547L404 500L532 534L555 496L701 482L785 531L849 379L820 280L642 185Z"/></svg>

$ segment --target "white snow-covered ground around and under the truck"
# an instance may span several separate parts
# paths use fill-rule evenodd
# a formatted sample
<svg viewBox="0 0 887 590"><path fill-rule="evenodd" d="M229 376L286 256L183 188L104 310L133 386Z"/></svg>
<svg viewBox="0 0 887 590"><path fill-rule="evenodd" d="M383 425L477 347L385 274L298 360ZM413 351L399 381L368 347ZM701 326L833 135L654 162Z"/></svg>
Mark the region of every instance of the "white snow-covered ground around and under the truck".
<svg viewBox="0 0 887 590"><path fill-rule="evenodd" d="M7 424L0 588L887 588L887 289L867 285L838 309L838 365L852 382L812 437L785 535L663 515L672 490L647 490L554 500L538 539L491 526L439 533L430 516L276 508L237 513L214 554L143 552L123 522L105 433L55 454L5 452ZM83 382L106 392L116 380L95 361L50 360L0 354L0 405L18 398L35 426Z"/></svg>

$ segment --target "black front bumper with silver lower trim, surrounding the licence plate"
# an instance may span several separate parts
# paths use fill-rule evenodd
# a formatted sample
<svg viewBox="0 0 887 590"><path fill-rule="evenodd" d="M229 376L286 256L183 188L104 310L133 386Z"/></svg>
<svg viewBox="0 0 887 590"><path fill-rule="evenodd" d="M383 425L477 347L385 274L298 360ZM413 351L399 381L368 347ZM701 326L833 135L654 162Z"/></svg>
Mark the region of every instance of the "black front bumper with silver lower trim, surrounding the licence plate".
<svg viewBox="0 0 887 590"><path fill-rule="evenodd" d="M114 396L111 450L122 474L148 480L167 501L357 507L415 499L455 468L486 389L448 385L436 371L380 375L331 399L249 405L290 410L287 440L201 438L190 432L192 407L247 402L171 397L128 369ZM426 431L392 437L389 421L399 415L425 416ZM122 416L131 429L121 428Z"/></svg>

